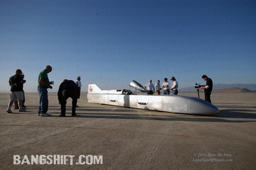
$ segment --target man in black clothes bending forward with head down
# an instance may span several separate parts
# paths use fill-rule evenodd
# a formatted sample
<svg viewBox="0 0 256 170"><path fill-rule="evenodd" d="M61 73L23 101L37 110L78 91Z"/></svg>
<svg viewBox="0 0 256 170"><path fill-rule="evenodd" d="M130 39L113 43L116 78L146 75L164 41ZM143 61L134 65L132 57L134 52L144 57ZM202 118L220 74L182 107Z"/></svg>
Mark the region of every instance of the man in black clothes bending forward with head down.
<svg viewBox="0 0 256 170"><path fill-rule="evenodd" d="M66 103L68 98L72 98L72 116L75 116L75 107L77 105L78 87L73 80L63 80L59 85L58 100L61 105L60 117L66 117Z"/></svg>

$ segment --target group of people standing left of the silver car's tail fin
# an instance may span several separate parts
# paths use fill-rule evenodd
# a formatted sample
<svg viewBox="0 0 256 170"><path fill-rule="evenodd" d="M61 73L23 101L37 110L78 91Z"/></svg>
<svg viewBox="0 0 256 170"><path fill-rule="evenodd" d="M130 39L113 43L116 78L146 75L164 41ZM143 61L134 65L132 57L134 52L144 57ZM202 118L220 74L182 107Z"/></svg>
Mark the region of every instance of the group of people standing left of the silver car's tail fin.
<svg viewBox="0 0 256 170"><path fill-rule="evenodd" d="M38 84L37 84L37 92L39 95L39 108L37 111L38 116L47 117L51 116L47 113L48 111L48 89L52 89L54 81L49 81L48 73L52 71L52 67L47 65L43 71L41 71L38 75ZM58 101L61 105L61 115L60 117L65 117L66 115L66 103L68 98L72 98L72 116L75 116L75 109L78 107L77 99L80 98L81 92L81 78L77 77L76 81L67 80L65 79L59 86L58 90ZM23 84L26 83L24 80L24 74L20 69L15 71L15 75L10 77L9 85L10 89L10 98L7 111L8 113L12 113L11 107L14 102L18 101L19 103L19 111L18 112L25 112L24 109L24 91L23 91Z"/></svg>

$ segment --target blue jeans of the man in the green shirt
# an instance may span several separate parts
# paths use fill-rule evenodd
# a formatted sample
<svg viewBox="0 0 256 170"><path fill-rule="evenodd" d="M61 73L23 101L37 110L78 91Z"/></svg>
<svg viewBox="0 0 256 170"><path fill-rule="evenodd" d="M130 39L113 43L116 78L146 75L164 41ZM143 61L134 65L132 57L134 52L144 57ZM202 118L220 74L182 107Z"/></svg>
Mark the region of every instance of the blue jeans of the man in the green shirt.
<svg viewBox="0 0 256 170"><path fill-rule="evenodd" d="M39 95L39 110L38 114L44 114L48 111L48 91L46 87L37 87L37 92Z"/></svg>

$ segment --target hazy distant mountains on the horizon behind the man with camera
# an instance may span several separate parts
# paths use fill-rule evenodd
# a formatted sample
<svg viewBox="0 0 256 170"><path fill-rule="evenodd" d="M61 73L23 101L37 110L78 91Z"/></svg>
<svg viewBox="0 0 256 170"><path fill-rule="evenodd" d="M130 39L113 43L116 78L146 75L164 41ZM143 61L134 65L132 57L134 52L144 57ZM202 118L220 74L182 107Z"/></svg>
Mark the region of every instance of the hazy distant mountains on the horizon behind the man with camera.
<svg viewBox="0 0 256 170"><path fill-rule="evenodd" d="M230 87L234 87L237 89L226 89ZM179 92L195 92L196 91L195 86L185 87L178 90ZM240 93L254 92L256 90L256 84L213 84L213 91L220 92L220 90L222 90L222 93L228 93L229 91L232 91L232 90L237 90L237 92L240 92Z"/></svg>

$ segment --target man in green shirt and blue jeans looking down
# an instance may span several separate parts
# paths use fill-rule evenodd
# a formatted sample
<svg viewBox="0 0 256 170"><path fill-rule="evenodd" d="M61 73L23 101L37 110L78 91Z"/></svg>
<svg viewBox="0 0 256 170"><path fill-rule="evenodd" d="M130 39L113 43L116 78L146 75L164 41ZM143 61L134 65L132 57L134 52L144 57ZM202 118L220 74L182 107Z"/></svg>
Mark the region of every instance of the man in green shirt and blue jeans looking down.
<svg viewBox="0 0 256 170"><path fill-rule="evenodd" d="M38 75L38 86L37 92L39 95L39 110L37 111L38 116L50 116L47 114L48 111L48 91L47 89L52 89L50 84L54 84L54 81L49 81L48 73L52 71L52 67L47 65L43 71Z"/></svg>

